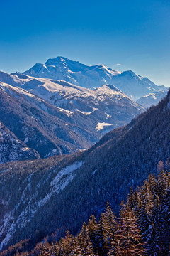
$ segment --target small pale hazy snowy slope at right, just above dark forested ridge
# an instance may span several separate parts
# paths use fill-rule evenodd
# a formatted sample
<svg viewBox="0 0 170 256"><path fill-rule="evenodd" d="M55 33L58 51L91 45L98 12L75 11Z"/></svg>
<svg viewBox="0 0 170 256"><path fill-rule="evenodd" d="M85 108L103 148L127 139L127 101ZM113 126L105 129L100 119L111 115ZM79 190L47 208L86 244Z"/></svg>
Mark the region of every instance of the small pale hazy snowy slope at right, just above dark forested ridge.
<svg viewBox="0 0 170 256"><path fill-rule="evenodd" d="M152 105L157 105L160 100L164 99L164 97L166 97L167 95L167 92L168 88L167 90L163 90L160 92L149 93L149 95L141 97L136 102L145 108L151 107Z"/></svg>

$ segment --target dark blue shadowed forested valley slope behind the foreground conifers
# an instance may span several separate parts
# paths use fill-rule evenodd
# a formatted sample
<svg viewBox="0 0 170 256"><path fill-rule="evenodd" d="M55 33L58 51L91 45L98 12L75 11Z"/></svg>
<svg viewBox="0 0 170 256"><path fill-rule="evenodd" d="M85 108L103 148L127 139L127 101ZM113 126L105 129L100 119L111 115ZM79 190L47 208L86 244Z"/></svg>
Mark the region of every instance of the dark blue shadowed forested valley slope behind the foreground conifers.
<svg viewBox="0 0 170 256"><path fill-rule="evenodd" d="M0 166L1 248L47 233L77 233L106 201L120 202L170 153L170 93L127 126L106 134L91 149ZM15 184L15 186L11 186Z"/></svg>

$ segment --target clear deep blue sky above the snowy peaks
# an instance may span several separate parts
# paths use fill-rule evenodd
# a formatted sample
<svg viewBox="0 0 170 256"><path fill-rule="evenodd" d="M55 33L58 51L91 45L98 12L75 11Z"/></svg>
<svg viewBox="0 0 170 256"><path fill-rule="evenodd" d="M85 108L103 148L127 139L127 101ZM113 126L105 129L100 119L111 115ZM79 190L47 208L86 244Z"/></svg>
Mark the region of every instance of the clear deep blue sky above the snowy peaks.
<svg viewBox="0 0 170 256"><path fill-rule="evenodd" d="M169 0L0 0L0 70L58 55L170 87Z"/></svg>

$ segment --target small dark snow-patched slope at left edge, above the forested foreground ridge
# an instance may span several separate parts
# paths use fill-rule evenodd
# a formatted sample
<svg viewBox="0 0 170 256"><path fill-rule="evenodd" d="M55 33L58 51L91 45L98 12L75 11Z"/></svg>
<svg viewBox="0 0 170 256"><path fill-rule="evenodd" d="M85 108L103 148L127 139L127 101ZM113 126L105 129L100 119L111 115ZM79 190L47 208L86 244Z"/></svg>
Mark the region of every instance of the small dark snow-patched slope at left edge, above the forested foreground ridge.
<svg viewBox="0 0 170 256"><path fill-rule="evenodd" d="M28 148L0 121L0 164L28 159L40 159L40 155Z"/></svg>

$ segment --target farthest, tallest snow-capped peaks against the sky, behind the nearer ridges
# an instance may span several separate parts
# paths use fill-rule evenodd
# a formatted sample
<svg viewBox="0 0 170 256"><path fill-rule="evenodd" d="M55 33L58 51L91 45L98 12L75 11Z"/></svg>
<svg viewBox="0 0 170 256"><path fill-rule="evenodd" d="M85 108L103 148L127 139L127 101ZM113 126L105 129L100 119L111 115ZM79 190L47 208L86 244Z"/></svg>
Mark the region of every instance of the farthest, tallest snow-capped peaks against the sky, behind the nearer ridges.
<svg viewBox="0 0 170 256"><path fill-rule="evenodd" d="M64 80L86 88L101 87L103 84L115 85L132 100L166 88L155 85L148 78L142 78L131 70L119 72L105 65L89 66L64 57L49 59L45 64L37 63L24 74L35 78Z"/></svg>

